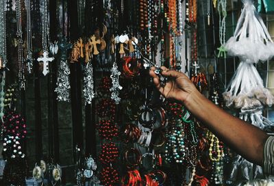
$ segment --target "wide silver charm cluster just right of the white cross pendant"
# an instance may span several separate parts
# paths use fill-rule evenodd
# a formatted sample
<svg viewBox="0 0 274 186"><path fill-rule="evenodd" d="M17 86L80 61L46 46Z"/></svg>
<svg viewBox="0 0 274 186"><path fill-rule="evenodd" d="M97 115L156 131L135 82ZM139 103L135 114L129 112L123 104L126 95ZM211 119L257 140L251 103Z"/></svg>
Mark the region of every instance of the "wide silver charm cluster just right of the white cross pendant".
<svg viewBox="0 0 274 186"><path fill-rule="evenodd" d="M61 60L60 66L58 68L58 78L57 78L57 87L55 88L55 92L57 93L58 101L66 101L69 102L69 92L71 89L71 85L69 83L69 66L67 61Z"/></svg>

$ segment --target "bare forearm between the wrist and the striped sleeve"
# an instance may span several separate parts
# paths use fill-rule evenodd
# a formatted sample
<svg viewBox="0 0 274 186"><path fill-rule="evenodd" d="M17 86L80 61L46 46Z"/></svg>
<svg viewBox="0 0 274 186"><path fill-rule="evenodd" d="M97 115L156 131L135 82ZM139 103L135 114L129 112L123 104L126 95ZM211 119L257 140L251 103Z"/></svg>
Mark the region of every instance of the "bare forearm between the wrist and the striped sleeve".
<svg viewBox="0 0 274 186"><path fill-rule="evenodd" d="M247 124L214 105L203 95L192 93L185 101L188 110L242 157L262 165L264 131Z"/></svg>

